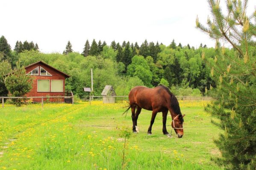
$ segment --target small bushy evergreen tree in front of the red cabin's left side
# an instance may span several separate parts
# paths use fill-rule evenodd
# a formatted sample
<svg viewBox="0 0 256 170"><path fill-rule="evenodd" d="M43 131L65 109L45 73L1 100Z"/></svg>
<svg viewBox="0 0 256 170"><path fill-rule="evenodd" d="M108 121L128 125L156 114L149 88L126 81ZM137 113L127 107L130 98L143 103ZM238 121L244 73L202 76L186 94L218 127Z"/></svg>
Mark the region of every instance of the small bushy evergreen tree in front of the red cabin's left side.
<svg viewBox="0 0 256 170"><path fill-rule="evenodd" d="M13 73L8 75L5 79L6 89L14 97L22 97L32 89L32 78L26 75L26 70L21 67L21 63L16 63L17 68ZM14 99L14 104L20 107L23 104L23 99Z"/></svg>

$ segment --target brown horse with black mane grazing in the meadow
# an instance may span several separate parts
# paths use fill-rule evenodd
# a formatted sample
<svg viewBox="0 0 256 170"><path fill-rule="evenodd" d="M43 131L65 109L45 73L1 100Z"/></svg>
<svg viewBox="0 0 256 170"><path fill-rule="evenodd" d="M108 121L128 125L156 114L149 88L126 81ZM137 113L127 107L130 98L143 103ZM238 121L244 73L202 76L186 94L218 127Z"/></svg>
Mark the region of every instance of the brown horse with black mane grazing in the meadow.
<svg viewBox="0 0 256 170"><path fill-rule="evenodd" d="M141 113L141 109L152 110L152 117L150 126L147 130L148 134L151 133L152 125L155 121L156 114L162 112L163 116L163 133L168 135L166 130L166 118L168 111L171 113L171 126L179 138L183 135L183 117L179 108L179 102L177 98L170 92L170 90L162 85L159 85L153 89L144 86L135 86L129 92L129 108L132 109L132 131L137 133L137 120L138 115ZM126 110L126 112L129 110ZM135 109L137 108L136 112Z"/></svg>

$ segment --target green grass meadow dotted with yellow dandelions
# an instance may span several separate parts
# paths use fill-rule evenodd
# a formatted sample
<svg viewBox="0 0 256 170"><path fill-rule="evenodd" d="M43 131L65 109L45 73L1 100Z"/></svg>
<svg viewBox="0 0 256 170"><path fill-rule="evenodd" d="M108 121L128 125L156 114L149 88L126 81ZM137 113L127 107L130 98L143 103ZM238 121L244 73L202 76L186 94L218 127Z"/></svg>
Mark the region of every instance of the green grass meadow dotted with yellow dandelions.
<svg viewBox="0 0 256 170"><path fill-rule="evenodd" d="M6 170L217 170L211 161L220 156L213 144L220 130L203 111L203 102L180 101L184 136L177 138L167 118L168 132L162 134L162 113L158 113L147 135L151 112L142 110L138 134L131 134L124 149L122 130L132 132L126 103L91 105L32 104L0 108L0 169Z"/></svg>

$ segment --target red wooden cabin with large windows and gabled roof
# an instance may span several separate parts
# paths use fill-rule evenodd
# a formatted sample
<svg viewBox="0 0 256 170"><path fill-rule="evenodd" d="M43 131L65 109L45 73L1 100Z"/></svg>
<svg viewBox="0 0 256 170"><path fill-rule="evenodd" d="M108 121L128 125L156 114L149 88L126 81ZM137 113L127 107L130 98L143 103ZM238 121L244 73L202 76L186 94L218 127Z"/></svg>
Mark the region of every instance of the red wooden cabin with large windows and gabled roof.
<svg viewBox="0 0 256 170"><path fill-rule="evenodd" d="M33 77L32 89L25 96L67 96L65 93L65 78L70 76L54 67L38 61L25 67L26 75ZM46 98L44 100L47 100ZM40 102L41 98L33 98ZM50 101L64 102L64 98L50 98Z"/></svg>

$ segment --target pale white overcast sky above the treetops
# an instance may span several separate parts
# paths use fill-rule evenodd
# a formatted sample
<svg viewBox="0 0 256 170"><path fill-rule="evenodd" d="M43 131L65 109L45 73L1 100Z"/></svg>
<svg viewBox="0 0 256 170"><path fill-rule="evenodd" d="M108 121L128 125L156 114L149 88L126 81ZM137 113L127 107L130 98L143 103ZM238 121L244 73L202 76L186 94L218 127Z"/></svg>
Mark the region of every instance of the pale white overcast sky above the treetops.
<svg viewBox="0 0 256 170"><path fill-rule="evenodd" d="M251 14L256 3L249 4ZM12 49L27 40L46 53L62 53L68 40L82 52L87 39L211 47L215 41L195 28L197 15L206 23L208 14L207 0L0 0L0 36Z"/></svg>

